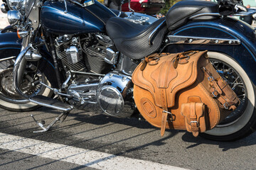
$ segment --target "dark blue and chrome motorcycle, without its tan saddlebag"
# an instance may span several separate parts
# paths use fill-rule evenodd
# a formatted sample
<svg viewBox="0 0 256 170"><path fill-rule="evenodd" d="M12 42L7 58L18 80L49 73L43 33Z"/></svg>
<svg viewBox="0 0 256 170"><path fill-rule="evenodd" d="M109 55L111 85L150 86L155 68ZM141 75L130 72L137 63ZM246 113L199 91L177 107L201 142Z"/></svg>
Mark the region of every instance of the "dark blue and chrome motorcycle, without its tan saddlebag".
<svg viewBox="0 0 256 170"><path fill-rule="evenodd" d="M31 115L43 129L36 132L65 120L73 108L100 106L117 118L139 114L131 78L137 65L155 52L189 50L208 50L240 98L235 111L201 135L238 140L255 129L255 30L229 17L255 13L241 1L180 1L151 24L144 16L118 17L95 0L6 0L1 10L17 32L0 34L0 107L63 111L47 127Z"/></svg>

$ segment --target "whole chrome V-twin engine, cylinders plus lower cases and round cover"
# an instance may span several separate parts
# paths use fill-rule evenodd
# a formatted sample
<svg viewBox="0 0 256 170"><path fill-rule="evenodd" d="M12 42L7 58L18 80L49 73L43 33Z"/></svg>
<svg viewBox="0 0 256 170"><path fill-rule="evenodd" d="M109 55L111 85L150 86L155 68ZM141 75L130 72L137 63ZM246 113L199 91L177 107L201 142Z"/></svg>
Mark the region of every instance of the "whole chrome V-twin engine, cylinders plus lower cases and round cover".
<svg viewBox="0 0 256 170"><path fill-rule="evenodd" d="M66 98L70 104L80 110L97 106L118 118L134 113L131 77L111 72L119 53L107 35L61 35L55 38L55 47L68 74L63 88L72 96Z"/></svg>

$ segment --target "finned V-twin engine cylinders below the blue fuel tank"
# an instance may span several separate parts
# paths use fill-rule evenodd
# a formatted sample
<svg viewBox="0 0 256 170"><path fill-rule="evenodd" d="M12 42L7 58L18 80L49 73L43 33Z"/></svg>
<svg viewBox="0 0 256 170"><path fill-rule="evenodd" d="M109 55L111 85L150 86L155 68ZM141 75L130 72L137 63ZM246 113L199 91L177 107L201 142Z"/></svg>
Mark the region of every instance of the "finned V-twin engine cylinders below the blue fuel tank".
<svg viewBox="0 0 256 170"><path fill-rule="evenodd" d="M55 38L58 58L67 70L105 74L110 72L117 60L118 52L110 47L107 35L93 34L83 37L60 35Z"/></svg>

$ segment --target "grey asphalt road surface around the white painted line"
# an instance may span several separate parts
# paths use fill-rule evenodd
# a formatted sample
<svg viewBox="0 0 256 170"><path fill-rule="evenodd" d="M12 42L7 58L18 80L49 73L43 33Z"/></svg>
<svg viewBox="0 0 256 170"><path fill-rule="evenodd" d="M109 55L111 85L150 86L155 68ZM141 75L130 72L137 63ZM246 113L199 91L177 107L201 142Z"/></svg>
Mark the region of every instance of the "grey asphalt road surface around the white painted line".
<svg viewBox="0 0 256 170"><path fill-rule="evenodd" d="M256 169L256 133L235 142L195 138L183 130L166 130L161 137L159 129L135 118L112 118L78 110L50 131L33 133L40 128L31 114L48 124L59 113L45 107L26 113L0 109L0 132L184 169ZM0 149L0 169L93 168Z"/></svg>

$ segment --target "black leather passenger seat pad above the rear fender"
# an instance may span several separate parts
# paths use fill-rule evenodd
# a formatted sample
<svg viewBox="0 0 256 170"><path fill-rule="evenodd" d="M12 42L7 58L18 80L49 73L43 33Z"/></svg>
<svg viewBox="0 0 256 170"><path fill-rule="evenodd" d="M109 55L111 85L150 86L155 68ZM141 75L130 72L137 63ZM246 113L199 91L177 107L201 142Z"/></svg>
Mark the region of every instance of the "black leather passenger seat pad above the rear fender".
<svg viewBox="0 0 256 170"><path fill-rule="evenodd" d="M211 1L179 1L166 13L166 24L169 30L174 30L188 22L188 18L200 13L218 13L218 4ZM207 21L216 16L201 16L195 21Z"/></svg>

